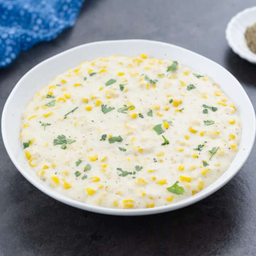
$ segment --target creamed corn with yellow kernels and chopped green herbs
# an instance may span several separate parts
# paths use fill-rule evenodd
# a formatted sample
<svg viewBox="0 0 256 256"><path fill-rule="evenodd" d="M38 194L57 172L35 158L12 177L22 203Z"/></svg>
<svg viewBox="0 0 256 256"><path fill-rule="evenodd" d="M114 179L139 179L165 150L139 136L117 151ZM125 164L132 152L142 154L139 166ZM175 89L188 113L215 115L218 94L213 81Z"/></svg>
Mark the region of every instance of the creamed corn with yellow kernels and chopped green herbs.
<svg viewBox="0 0 256 256"><path fill-rule="evenodd" d="M27 104L20 138L38 177L60 193L146 208L216 181L240 134L233 102L207 75L142 54L84 62L54 78Z"/></svg>

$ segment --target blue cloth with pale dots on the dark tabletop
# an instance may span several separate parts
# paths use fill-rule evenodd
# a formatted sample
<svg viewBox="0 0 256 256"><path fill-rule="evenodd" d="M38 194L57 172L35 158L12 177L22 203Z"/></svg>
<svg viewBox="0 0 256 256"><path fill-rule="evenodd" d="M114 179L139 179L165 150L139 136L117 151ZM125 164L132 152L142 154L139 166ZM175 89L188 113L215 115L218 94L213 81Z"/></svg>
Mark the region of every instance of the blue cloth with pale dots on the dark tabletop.
<svg viewBox="0 0 256 256"><path fill-rule="evenodd" d="M0 68L76 21L83 0L0 0Z"/></svg>

